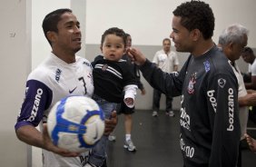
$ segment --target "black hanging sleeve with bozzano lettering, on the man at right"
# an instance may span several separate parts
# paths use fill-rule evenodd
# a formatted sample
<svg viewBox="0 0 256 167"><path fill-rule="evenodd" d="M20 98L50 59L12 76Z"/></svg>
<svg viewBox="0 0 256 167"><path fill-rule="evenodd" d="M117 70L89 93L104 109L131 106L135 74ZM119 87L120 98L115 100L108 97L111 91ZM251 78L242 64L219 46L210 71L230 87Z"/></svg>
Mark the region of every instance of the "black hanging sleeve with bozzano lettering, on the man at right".
<svg viewBox="0 0 256 167"><path fill-rule="evenodd" d="M231 74L216 74L208 82L207 106L212 126L210 167L236 166L241 133L237 89L237 81Z"/></svg>

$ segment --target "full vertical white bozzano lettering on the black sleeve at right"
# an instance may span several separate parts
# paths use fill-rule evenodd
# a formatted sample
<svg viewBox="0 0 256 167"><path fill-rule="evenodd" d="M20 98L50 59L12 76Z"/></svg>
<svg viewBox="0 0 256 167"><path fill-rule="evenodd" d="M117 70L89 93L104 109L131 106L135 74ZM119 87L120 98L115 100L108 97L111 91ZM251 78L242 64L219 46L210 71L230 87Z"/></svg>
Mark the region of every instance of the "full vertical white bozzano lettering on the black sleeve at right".
<svg viewBox="0 0 256 167"><path fill-rule="evenodd" d="M233 126L233 123L234 123L234 91L233 89L229 89L228 90L229 92L229 96L228 96L228 104L229 104L229 127L227 128L227 131L233 131L234 130L234 126Z"/></svg>

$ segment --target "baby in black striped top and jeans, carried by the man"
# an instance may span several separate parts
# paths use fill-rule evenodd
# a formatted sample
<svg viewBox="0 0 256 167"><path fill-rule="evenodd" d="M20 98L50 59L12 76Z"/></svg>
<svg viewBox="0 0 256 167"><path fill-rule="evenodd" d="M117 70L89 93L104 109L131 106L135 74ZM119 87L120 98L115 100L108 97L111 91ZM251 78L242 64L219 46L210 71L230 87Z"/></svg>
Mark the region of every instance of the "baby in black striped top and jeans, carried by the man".
<svg viewBox="0 0 256 167"><path fill-rule="evenodd" d="M126 51L126 35L122 29L113 27L103 33L101 51L103 55L96 56L92 63L93 98L103 109L105 117L109 118L116 105L122 101L130 108L134 106L134 96L138 86L131 64L122 59ZM103 136L94 147L89 159L91 166L103 165L107 141L108 136Z"/></svg>

